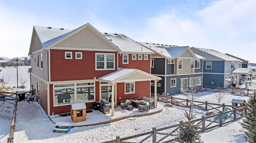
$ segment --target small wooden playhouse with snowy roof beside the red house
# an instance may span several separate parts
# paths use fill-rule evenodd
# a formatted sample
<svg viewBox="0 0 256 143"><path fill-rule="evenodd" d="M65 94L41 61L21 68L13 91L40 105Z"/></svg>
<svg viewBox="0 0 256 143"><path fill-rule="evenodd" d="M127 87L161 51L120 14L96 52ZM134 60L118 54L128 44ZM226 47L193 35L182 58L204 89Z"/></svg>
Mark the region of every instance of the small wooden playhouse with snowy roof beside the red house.
<svg viewBox="0 0 256 143"><path fill-rule="evenodd" d="M86 105L85 103L71 104L71 119L73 122L86 121Z"/></svg>

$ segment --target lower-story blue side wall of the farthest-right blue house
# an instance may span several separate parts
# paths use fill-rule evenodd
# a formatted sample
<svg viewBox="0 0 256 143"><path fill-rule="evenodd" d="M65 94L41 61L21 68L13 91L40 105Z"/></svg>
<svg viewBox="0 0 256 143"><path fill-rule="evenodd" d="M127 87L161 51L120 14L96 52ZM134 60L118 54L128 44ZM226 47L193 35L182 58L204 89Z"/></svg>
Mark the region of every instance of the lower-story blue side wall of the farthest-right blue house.
<svg viewBox="0 0 256 143"><path fill-rule="evenodd" d="M213 84L211 84L213 82ZM206 74L203 77L203 86L224 87L224 74Z"/></svg>

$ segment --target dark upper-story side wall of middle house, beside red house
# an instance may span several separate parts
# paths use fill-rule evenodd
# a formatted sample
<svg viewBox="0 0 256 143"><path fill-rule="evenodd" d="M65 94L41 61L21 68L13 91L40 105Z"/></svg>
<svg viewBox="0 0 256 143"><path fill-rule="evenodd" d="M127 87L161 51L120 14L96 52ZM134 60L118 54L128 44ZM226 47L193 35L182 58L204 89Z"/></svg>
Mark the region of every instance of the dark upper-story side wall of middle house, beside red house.
<svg viewBox="0 0 256 143"><path fill-rule="evenodd" d="M151 68L151 74L163 74L164 75L165 60L163 58L154 59L154 68Z"/></svg>

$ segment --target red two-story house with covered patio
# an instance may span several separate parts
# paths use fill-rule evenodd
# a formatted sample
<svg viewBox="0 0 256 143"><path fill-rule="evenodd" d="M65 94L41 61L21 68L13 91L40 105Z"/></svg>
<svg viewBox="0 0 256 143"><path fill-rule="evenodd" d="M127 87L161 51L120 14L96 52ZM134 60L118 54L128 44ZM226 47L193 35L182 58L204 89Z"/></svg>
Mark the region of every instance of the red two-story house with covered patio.
<svg viewBox="0 0 256 143"><path fill-rule="evenodd" d="M125 51L90 24L74 30L34 26L30 83L48 116L70 112L72 103L84 102L92 109L101 99L113 107L121 100L150 97L150 81L161 78L150 74L149 60L142 60L139 67L129 57L152 52L134 51L131 46Z"/></svg>

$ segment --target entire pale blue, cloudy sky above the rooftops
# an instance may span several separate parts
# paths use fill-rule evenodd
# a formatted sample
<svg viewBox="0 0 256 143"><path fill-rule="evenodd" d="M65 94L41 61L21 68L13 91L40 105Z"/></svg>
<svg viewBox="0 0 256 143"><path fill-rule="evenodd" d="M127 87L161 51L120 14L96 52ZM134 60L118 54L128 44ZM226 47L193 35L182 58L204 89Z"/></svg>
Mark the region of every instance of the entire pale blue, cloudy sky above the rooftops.
<svg viewBox="0 0 256 143"><path fill-rule="evenodd" d="M200 47L256 63L255 0L0 0L0 57L28 56L34 25Z"/></svg>

